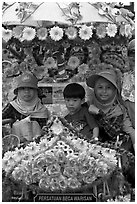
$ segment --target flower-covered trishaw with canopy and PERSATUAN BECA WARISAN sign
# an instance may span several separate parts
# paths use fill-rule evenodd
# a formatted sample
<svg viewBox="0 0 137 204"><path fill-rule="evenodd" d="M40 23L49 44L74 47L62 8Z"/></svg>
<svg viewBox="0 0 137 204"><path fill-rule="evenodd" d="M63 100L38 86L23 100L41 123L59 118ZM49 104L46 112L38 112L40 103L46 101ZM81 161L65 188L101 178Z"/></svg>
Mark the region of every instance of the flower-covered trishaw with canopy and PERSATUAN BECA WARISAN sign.
<svg viewBox="0 0 137 204"><path fill-rule="evenodd" d="M52 113L41 136L27 145L11 134L11 120L3 121L3 201L134 199L121 168L126 150L83 139L64 119L62 95L70 82L86 88L87 76L102 70L102 63L117 67L122 75L130 71L127 43L134 38L133 19L118 2L3 4L3 107L14 98L15 78L29 70Z"/></svg>

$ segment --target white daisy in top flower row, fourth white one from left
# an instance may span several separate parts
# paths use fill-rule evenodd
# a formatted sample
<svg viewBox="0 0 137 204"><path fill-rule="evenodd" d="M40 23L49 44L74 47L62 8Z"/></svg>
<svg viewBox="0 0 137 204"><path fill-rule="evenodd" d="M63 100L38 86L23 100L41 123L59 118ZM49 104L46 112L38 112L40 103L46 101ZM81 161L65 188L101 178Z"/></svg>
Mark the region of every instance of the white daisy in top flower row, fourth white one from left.
<svg viewBox="0 0 137 204"><path fill-rule="evenodd" d="M83 40L89 40L93 35L92 29L93 29L92 26L83 25L79 30L80 38Z"/></svg>

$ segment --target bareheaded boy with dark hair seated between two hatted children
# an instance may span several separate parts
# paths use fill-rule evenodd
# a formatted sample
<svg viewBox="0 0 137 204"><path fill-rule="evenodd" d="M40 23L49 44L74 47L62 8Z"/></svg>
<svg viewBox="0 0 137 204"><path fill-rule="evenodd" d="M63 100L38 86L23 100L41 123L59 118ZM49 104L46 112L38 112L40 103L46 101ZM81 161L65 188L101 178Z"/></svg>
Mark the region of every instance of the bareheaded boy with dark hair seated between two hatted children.
<svg viewBox="0 0 137 204"><path fill-rule="evenodd" d="M84 105L85 90L77 83L68 84L64 91L66 107L69 114L65 119L80 131L87 139L98 140L99 129L93 118L88 112L88 107Z"/></svg>

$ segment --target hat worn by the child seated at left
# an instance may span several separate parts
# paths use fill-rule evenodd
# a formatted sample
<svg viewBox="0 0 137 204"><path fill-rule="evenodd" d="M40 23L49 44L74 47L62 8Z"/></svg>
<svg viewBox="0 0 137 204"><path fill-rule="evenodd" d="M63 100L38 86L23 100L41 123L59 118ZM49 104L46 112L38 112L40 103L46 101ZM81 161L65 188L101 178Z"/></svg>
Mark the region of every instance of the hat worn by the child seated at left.
<svg viewBox="0 0 137 204"><path fill-rule="evenodd" d="M29 87L38 89L38 79L31 73L25 72L16 79L16 88L14 94L17 94L18 88Z"/></svg>

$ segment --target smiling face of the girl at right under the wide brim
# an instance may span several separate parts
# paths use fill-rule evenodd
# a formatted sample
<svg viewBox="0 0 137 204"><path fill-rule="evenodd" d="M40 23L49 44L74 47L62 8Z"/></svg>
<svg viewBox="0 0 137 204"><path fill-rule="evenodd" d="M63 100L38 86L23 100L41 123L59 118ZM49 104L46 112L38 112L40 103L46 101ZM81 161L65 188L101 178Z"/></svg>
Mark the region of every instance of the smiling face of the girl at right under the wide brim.
<svg viewBox="0 0 137 204"><path fill-rule="evenodd" d="M95 83L95 94L101 103L109 103L115 96L116 88L105 78L99 78Z"/></svg>

